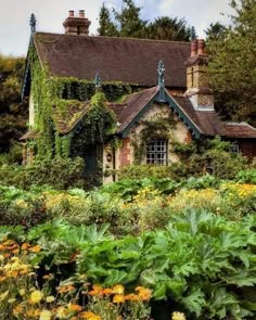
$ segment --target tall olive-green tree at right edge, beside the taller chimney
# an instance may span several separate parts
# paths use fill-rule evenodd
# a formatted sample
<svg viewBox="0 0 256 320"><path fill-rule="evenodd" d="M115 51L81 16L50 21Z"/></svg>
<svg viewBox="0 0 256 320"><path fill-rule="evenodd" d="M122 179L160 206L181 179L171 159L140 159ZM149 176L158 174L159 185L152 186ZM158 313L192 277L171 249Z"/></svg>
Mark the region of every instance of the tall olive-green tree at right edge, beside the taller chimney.
<svg viewBox="0 0 256 320"><path fill-rule="evenodd" d="M226 116L256 125L256 5L255 0L231 2L232 25L209 39L210 86Z"/></svg>

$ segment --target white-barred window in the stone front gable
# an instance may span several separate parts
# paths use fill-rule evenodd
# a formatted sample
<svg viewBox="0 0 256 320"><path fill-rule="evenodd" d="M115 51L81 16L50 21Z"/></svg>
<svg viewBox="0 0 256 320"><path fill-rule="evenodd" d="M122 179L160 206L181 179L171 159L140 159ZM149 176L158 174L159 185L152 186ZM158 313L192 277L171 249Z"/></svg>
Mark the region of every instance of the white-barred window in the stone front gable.
<svg viewBox="0 0 256 320"><path fill-rule="evenodd" d="M167 165L167 141L151 140L146 144L146 164Z"/></svg>

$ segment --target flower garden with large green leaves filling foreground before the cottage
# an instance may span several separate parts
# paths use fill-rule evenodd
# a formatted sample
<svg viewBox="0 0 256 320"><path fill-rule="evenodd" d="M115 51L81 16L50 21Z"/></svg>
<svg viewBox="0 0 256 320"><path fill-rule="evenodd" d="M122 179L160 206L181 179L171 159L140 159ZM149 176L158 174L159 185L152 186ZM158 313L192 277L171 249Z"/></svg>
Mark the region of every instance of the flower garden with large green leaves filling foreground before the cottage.
<svg viewBox="0 0 256 320"><path fill-rule="evenodd" d="M0 318L255 319L255 209L254 168L91 191L2 183Z"/></svg>

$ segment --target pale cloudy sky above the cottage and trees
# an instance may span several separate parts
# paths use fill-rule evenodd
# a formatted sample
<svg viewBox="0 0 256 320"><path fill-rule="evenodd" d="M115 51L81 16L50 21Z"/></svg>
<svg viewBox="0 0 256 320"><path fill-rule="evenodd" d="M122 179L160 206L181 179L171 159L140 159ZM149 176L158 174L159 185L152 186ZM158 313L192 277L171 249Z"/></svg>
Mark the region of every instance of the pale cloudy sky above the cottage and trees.
<svg viewBox="0 0 256 320"><path fill-rule="evenodd" d="M0 0L0 53L25 55L30 35L29 16L35 13L37 30L63 33L62 23L68 10L84 9L91 21L90 33L97 34L98 15L102 0ZM121 7L121 0L105 0L106 7ZM214 22L229 22L229 0L135 0L142 7L142 18L168 15L185 18L196 34L205 38L204 30ZM221 15L226 13L226 15Z"/></svg>

